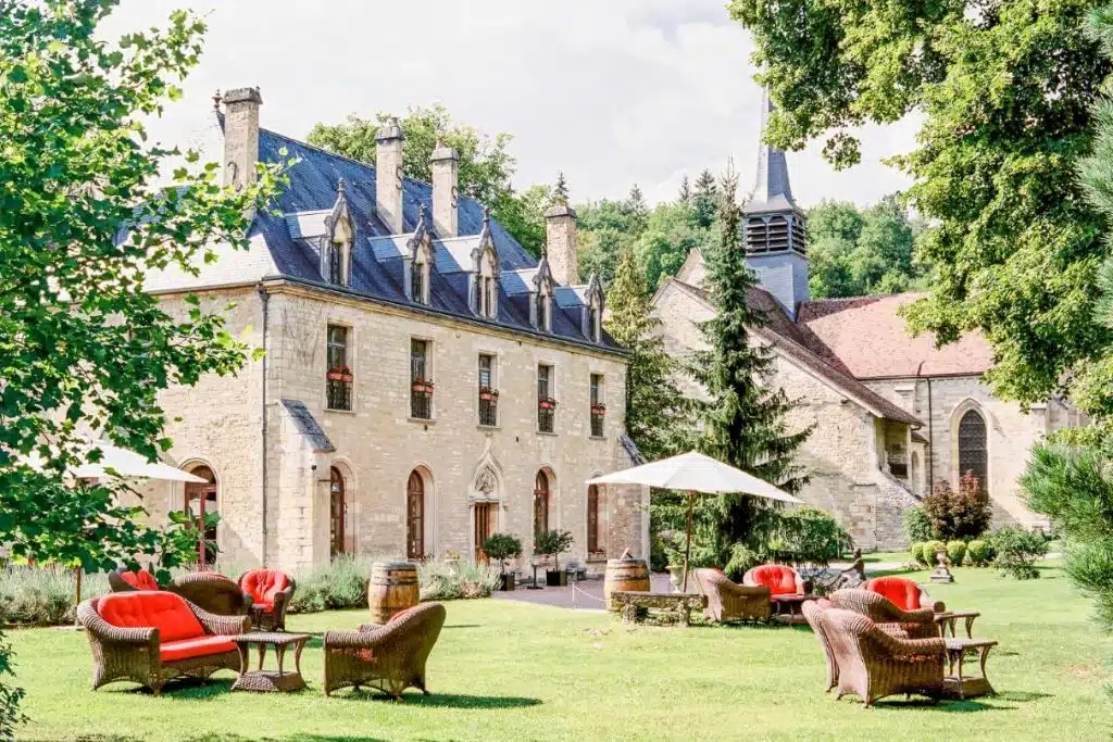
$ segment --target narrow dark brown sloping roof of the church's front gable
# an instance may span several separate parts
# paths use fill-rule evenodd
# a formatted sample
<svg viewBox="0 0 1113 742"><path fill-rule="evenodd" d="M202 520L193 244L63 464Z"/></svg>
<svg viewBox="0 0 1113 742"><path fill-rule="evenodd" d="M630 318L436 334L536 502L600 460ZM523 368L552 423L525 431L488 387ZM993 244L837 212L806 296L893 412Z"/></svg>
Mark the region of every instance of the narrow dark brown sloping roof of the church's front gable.
<svg viewBox="0 0 1113 742"><path fill-rule="evenodd" d="M689 291L709 306L711 305L710 295L702 288L686 284L676 278L670 278L669 281ZM812 375L818 376L821 380L878 417L914 426L923 425L923 422L918 417L902 409L858 379L846 374L835 365L827 363L821 356L808 348L801 342L804 337L799 333L799 327L788 318L780 304L769 291L756 286L751 287L748 301L750 306L764 310L768 318L766 326L752 327L750 332L772 346L782 356Z"/></svg>

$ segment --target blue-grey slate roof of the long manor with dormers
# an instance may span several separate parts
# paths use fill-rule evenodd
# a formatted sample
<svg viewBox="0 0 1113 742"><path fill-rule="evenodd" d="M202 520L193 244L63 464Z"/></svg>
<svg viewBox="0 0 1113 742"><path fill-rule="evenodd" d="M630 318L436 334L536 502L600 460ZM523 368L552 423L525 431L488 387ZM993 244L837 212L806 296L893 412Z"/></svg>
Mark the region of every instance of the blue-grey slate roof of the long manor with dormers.
<svg viewBox="0 0 1113 742"><path fill-rule="evenodd" d="M223 123L223 117L218 118ZM285 155L283 155L285 150ZM521 290L521 281L511 276L529 275L538 261L491 219L491 238L499 255L500 270L509 280L500 281L499 317L476 316L469 306L467 276L471 251L479 244L483 228L483 206L471 198L459 199L460 237L433 239L433 270L430 278L430 306L410 301L402 285L402 255L406 239L417 226L424 205L432 214L433 188L430 184L405 178L403 184L404 235L391 235L375 214L375 168L267 129L259 129L259 160L279 162L296 159L289 169L289 186L278 196L279 215L260 211L249 231L250 249L216 248L220 258L214 264L197 263L198 276L170 269L148 276L150 291L193 290L229 284L257 283L264 278L286 278L311 285L327 285L321 275L317 238L325 234L325 217L337 200L341 179L355 229L352 269L347 287L328 288L432 311L491 324L533 336L556 338L592 348L621 350L603 333L601 343L593 343L583 333L581 319L585 291L582 288L559 287L552 307L551 332L544 333L530 324L528 300L511 300L506 289ZM522 297L524 298L524 297Z"/></svg>

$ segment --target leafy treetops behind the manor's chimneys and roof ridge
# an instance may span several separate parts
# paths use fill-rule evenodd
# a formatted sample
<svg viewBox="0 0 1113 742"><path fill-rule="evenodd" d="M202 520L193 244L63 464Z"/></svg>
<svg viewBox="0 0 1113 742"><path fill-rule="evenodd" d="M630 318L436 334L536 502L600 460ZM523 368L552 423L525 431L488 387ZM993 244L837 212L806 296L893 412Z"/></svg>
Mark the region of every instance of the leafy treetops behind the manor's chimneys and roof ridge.
<svg viewBox="0 0 1113 742"><path fill-rule="evenodd" d="M331 152L375 165L375 135L392 118L393 115L385 112L373 119L352 113L343 123L317 123L306 140ZM549 204L548 199L543 205L535 200L538 191L530 194L529 199L514 194L511 178L518 162L509 151L511 135L500 132L490 137L475 127L453 120L441 103L410 108L398 118L398 123L405 135L402 167L407 177L432 182L431 159L437 142L454 148L460 156L460 195L490 206L494 218L514 239L532 255L540 253L544 241L543 212Z"/></svg>

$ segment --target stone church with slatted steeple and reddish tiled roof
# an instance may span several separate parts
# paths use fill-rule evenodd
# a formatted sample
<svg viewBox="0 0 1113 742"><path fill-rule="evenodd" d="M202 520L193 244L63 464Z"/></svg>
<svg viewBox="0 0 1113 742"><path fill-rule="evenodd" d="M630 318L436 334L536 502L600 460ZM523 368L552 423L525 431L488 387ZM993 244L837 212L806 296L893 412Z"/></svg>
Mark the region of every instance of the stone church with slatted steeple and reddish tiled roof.
<svg viewBox="0 0 1113 742"><path fill-rule="evenodd" d="M1083 424L1078 413L1058 398L1027 413L995 399L983 382L993 350L979 334L942 348L908 335L897 311L917 295L809 300L806 221L785 154L762 145L758 162L743 225L759 283L751 301L769 324L754 336L775 356L770 384L798 403L791 426L814 426L799 456L811 477L802 499L835 513L864 548L900 547L904 511L937 483L956 486L972 472L998 522L1043 525L1021 502L1017 477L1031 446ZM653 299L674 356L703 347L698 324L716 311L705 278L693 250ZM691 379L681 383L703 394Z"/></svg>

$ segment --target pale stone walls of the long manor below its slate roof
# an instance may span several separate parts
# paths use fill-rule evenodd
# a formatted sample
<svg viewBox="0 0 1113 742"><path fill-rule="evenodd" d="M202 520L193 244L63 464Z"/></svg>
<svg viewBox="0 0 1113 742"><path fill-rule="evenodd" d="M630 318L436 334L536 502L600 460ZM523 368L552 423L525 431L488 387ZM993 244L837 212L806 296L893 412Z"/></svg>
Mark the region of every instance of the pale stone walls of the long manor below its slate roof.
<svg viewBox="0 0 1113 742"><path fill-rule="evenodd" d="M234 300L229 329L267 352L265 360L250 363L235 377L206 377L197 387L176 387L162 397L167 415L181 418L168 428L175 442L168 461L187 469L204 464L216 474L218 544L225 558L292 571L327 562L332 467L344 477L347 553L405 556L406 483L414 471L425 484L427 555L475 553L476 502L494 504L492 533L512 533L524 545L532 544L533 489L540 471L551 483L550 527L568 530L575 538L565 556L581 562L590 557L589 566L600 571L602 560L627 547L646 553L648 517L642 506L648 491L640 487L600 488L601 552L585 551L584 482L630 466L615 423L623 417L626 399L621 355L526 340L465 323L432 321L405 309L282 281L266 285L263 294L220 291L208 300ZM164 305L175 309L180 301L167 296ZM326 409L329 324L351 328L352 412ZM431 344L436 384L431 421L408 416L410 346L415 338ZM499 425L493 428L479 425L481 353L496 359ZM554 370L554 434L536 431L541 363ZM603 379L608 413L602 437L590 435L591 374ZM283 404L289 399L305 405L334 451L321 449L304 435ZM494 487L483 492L477 478L487 471L494 473ZM152 485L145 505L157 521L169 509L181 509L184 497L184 485ZM528 561L518 566L528 568Z"/></svg>

